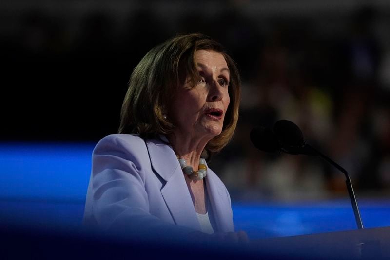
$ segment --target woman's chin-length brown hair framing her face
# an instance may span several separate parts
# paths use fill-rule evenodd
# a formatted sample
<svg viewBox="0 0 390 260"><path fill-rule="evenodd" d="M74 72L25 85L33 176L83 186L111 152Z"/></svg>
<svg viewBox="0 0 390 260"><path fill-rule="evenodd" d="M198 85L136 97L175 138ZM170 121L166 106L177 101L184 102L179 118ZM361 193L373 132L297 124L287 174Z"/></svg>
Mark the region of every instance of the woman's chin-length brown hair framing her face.
<svg viewBox="0 0 390 260"><path fill-rule="evenodd" d="M178 35L150 50L133 70L129 88L120 113L120 134L138 134L142 138L156 138L170 134L175 125L164 118L168 104L174 98L177 87L187 75L195 83L199 77L194 54L198 50L221 53L230 70L230 104L226 111L220 135L211 139L205 147L207 157L219 152L232 139L238 120L241 81L234 60L221 44L209 36L195 33Z"/></svg>

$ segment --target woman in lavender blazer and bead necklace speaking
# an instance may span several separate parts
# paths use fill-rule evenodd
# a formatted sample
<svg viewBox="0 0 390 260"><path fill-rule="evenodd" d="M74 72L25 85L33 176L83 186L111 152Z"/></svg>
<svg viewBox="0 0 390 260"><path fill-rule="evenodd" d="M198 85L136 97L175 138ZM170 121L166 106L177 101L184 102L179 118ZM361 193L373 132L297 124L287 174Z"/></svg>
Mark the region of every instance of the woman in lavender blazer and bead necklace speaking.
<svg viewBox="0 0 390 260"><path fill-rule="evenodd" d="M208 36L176 36L134 69L119 134L93 152L84 223L156 236L208 233L233 241L229 193L206 160L232 138L240 79Z"/></svg>

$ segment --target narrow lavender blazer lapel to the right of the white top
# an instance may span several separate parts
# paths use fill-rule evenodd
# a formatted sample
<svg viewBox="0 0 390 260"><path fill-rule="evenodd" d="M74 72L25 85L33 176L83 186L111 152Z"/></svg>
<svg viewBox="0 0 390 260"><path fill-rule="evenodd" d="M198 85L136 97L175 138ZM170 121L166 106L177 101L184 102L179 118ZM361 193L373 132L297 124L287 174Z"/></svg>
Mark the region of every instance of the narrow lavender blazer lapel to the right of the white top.
<svg viewBox="0 0 390 260"><path fill-rule="evenodd" d="M231 208L227 199L225 187L218 185L220 182L216 174L207 169L206 187L209 195L210 205L213 210L215 223L219 232L233 231L233 216Z"/></svg>

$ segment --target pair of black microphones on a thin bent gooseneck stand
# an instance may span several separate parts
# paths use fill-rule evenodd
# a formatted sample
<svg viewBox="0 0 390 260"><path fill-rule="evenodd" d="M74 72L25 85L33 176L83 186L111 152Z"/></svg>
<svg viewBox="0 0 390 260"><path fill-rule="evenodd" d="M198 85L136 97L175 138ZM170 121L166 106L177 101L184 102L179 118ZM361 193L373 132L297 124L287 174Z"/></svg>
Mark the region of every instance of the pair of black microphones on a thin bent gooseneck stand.
<svg viewBox="0 0 390 260"><path fill-rule="evenodd" d="M359 229L363 229L350 175L343 167L308 144L303 138L302 131L296 124L288 120L279 120L273 125L273 131L262 126L256 127L252 129L250 139L259 150L268 153L284 152L291 155L318 156L344 173L356 225Z"/></svg>

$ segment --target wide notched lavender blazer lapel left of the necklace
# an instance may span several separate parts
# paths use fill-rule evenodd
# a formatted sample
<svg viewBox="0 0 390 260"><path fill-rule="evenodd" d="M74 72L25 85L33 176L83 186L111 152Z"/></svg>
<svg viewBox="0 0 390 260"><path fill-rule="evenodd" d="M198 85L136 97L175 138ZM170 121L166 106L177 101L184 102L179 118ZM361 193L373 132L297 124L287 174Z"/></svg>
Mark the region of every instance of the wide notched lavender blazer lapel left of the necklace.
<svg viewBox="0 0 390 260"><path fill-rule="evenodd" d="M200 230L195 207L174 150L156 139L147 140L146 146L153 169L166 181L161 195L175 224Z"/></svg>

